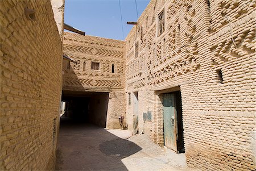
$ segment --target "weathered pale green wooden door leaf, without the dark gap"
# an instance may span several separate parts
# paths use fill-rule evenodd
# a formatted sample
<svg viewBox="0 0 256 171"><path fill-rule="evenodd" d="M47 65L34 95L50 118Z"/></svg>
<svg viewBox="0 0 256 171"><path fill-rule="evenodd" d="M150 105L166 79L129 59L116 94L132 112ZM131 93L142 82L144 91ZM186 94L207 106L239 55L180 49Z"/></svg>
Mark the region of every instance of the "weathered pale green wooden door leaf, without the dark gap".
<svg viewBox="0 0 256 171"><path fill-rule="evenodd" d="M164 145L177 152L177 112L175 94L163 94Z"/></svg>

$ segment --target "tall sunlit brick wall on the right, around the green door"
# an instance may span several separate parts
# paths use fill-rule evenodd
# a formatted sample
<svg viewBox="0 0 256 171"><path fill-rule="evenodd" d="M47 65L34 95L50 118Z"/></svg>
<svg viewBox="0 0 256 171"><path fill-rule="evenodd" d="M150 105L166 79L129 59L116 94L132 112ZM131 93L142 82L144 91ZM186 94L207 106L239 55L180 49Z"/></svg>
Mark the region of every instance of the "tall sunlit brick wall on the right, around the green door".
<svg viewBox="0 0 256 171"><path fill-rule="evenodd" d="M160 93L179 88L187 164L255 170L255 6L250 0L152 0L126 37L128 128L134 120L129 93L138 91L139 132L164 145ZM151 122L144 122L148 111Z"/></svg>

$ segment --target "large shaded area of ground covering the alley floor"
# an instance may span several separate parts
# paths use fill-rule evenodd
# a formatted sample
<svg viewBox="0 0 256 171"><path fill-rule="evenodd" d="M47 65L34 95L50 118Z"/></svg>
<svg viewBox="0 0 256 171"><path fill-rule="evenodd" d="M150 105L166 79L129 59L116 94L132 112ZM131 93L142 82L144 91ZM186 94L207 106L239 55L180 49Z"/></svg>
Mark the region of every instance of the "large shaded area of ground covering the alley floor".
<svg viewBox="0 0 256 171"><path fill-rule="evenodd" d="M61 118L56 170L127 170L121 160L141 149L104 128Z"/></svg>

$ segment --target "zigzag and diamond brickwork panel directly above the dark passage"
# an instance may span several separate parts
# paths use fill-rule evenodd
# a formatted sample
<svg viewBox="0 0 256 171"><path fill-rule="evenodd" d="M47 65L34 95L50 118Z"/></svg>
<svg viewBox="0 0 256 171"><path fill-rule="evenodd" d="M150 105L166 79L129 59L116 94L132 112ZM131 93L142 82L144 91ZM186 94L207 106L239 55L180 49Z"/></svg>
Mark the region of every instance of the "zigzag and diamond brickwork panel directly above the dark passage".
<svg viewBox="0 0 256 171"><path fill-rule="evenodd" d="M67 61L63 63L63 90L122 91L125 86L124 47L123 41L64 32L64 53L76 63L71 62L71 69L67 68ZM99 62L100 70L92 70L92 62Z"/></svg>

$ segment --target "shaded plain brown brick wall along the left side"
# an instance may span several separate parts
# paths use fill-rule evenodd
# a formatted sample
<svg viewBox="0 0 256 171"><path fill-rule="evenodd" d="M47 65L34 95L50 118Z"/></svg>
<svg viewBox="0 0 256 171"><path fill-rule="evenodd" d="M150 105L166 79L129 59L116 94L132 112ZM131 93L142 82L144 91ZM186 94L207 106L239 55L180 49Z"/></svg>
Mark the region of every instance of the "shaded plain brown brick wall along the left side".
<svg viewBox="0 0 256 171"><path fill-rule="evenodd" d="M0 1L0 23L0 170L53 170L62 43L51 1Z"/></svg>

